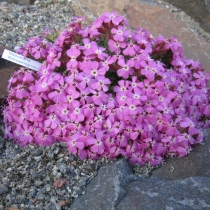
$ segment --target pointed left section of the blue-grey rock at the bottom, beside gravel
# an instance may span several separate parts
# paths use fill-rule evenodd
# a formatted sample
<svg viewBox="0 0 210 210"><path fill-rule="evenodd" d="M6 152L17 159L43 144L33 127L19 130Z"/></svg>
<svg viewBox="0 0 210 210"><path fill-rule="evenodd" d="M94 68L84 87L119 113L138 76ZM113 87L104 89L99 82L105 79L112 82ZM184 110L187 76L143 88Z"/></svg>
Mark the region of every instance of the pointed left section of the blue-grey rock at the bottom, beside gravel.
<svg viewBox="0 0 210 210"><path fill-rule="evenodd" d="M123 187L136 179L125 159L101 167L86 187L86 194L74 199L71 210L112 210L126 195Z"/></svg>

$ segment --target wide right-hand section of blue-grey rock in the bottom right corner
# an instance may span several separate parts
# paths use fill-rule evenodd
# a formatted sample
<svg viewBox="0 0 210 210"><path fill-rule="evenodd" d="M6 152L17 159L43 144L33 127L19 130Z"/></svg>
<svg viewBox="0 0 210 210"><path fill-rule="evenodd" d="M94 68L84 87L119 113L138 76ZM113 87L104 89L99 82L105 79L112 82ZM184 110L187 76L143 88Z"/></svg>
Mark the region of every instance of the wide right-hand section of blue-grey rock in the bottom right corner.
<svg viewBox="0 0 210 210"><path fill-rule="evenodd" d="M210 177L162 181L155 177L129 183L116 210L210 209Z"/></svg>

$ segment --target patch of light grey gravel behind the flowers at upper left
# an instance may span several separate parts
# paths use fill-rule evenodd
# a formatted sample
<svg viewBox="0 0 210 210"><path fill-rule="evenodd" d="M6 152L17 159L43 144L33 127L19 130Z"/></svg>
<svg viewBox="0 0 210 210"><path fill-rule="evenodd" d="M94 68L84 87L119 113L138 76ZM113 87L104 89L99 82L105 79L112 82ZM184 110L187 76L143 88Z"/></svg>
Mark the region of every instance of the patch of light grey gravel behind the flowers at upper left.
<svg viewBox="0 0 210 210"><path fill-rule="evenodd" d="M71 0L59 0L56 4L51 0L36 1L29 6L1 2L0 45L14 49L46 28L64 28L74 16L71 5Z"/></svg>

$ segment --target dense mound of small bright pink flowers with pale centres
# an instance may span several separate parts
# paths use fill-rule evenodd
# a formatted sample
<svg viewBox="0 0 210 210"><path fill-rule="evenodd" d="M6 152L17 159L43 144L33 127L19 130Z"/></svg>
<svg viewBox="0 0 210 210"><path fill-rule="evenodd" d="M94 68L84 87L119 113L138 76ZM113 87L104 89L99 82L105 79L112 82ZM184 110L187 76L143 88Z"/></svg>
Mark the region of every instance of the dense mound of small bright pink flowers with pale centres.
<svg viewBox="0 0 210 210"><path fill-rule="evenodd" d="M117 13L91 26L29 38L18 53L42 63L8 85L5 137L21 146L64 141L81 159L126 157L155 166L185 156L210 127L210 75L176 38L128 30Z"/></svg>

